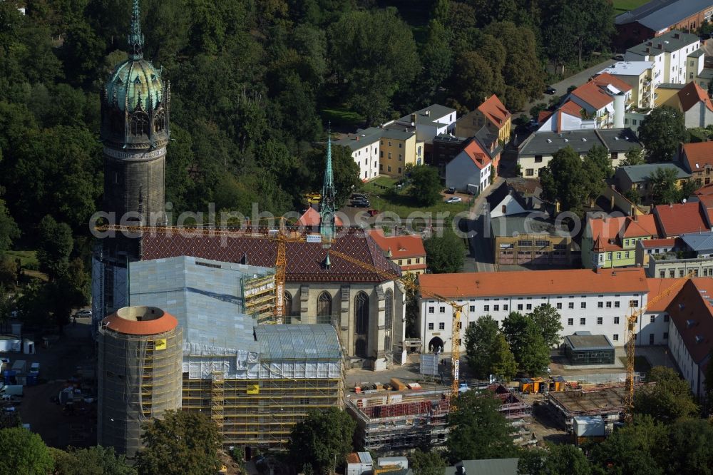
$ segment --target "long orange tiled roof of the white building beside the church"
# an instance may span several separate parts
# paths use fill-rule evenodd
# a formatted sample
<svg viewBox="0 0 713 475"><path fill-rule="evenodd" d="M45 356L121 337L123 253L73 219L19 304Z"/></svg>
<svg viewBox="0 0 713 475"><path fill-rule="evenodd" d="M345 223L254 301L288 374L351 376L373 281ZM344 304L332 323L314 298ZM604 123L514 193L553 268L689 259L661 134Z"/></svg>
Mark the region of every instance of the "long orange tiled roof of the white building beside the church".
<svg viewBox="0 0 713 475"><path fill-rule="evenodd" d="M448 298L582 295L649 290L646 275L641 268L421 274L419 284L422 290ZM424 295L424 298L428 298L428 294Z"/></svg>

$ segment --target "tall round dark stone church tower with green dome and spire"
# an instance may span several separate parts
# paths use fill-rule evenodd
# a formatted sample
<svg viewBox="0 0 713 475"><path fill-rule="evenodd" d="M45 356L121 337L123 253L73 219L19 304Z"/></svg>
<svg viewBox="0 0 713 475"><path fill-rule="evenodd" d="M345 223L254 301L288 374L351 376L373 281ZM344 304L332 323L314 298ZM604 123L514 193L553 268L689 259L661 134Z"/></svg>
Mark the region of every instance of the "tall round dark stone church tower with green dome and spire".
<svg viewBox="0 0 713 475"><path fill-rule="evenodd" d="M116 213L117 224L122 219L163 224L170 86L143 58L138 0L133 1L128 44L128 59L116 66L101 91L103 211Z"/></svg>

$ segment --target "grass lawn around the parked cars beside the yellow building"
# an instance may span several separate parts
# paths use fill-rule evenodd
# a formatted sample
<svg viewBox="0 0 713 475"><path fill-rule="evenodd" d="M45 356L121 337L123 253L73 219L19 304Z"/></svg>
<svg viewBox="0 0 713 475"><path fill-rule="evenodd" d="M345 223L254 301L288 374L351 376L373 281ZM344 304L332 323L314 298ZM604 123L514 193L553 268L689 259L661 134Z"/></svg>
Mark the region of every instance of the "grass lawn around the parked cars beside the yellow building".
<svg viewBox="0 0 713 475"><path fill-rule="evenodd" d="M411 197L408 195L408 187L403 190L396 188L396 180L380 176L364 185L364 192L369 194L371 206L384 213L390 211L396 213L400 218L408 218L411 213L433 213L433 218L436 218L436 213L450 213L444 218L453 218L457 213L468 210L467 200L463 203L443 203L443 199L439 200L433 206L421 208L415 205ZM472 198L471 198L472 199Z"/></svg>

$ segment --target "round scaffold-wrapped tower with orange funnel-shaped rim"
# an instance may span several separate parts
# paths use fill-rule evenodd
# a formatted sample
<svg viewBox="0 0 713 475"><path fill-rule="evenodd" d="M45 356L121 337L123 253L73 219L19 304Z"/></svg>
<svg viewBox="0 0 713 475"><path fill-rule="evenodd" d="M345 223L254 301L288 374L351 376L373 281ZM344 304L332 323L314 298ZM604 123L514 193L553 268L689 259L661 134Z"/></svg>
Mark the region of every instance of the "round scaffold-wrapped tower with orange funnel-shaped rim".
<svg viewBox="0 0 713 475"><path fill-rule="evenodd" d="M124 307L99 327L98 443L129 458L140 449L141 424L181 404L183 330L170 317L170 330L150 333L166 328L152 311L165 318L158 309Z"/></svg>

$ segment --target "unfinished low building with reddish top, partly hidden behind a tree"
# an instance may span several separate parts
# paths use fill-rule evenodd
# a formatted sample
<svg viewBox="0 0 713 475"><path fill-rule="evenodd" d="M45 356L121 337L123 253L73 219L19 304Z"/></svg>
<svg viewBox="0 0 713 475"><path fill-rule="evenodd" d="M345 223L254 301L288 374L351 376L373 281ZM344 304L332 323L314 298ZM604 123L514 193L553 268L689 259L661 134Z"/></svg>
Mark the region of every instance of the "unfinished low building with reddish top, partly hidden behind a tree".
<svg viewBox="0 0 713 475"><path fill-rule="evenodd" d="M532 406L501 384L482 390L501 400L499 410L511 422L515 444L535 444L529 430ZM356 419L356 444L363 450L389 454L425 446L438 448L448 439L451 392L377 390L347 398L346 409Z"/></svg>

